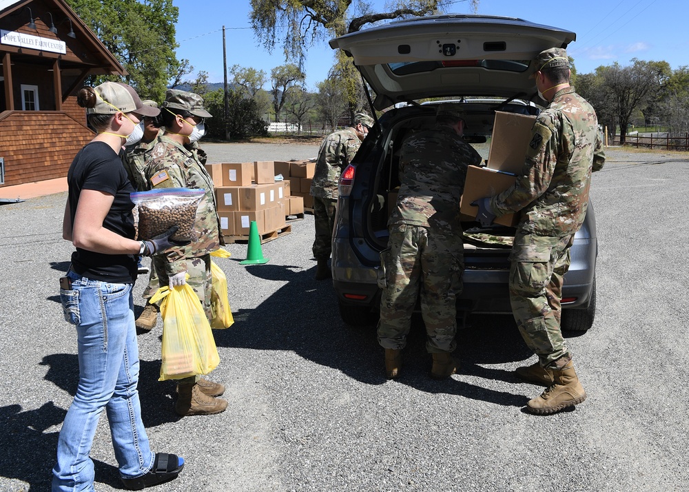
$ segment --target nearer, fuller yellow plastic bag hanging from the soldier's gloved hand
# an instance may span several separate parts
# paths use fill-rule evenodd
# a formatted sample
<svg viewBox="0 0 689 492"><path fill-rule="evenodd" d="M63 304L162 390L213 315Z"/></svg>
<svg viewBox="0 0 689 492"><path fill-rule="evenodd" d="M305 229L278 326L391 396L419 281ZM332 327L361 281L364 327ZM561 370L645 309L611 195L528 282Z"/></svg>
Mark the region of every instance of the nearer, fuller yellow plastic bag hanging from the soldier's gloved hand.
<svg viewBox="0 0 689 492"><path fill-rule="evenodd" d="M163 364L158 381L207 374L218 367L213 332L192 287L161 287L150 302L161 299Z"/></svg>

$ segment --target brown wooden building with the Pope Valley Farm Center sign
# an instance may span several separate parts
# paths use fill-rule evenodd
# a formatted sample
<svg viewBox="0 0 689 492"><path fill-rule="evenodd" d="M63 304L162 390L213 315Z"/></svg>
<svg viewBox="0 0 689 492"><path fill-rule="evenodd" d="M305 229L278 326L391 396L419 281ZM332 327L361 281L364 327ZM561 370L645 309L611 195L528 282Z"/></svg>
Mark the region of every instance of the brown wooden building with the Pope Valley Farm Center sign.
<svg viewBox="0 0 689 492"><path fill-rule="evenodd" d="M94 136L76 92L124 68L63 0L0 0L0 65L0 194L67 176Z"/></svg>

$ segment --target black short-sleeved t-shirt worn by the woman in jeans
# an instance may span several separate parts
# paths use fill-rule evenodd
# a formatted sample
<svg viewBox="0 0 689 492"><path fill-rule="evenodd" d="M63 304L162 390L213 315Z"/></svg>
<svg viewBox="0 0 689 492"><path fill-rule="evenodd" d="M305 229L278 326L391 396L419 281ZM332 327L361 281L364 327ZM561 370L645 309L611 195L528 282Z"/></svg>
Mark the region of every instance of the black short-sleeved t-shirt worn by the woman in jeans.
<svg viewBox="0 0 689 492"><path fill-rule="evenodd" d="M130 193L134 187L118 154L103 142L91 142L76 154L67 174L72 225L82 189L94 189L114 196L103 227L125 238L134 239L134 203ZM72 269L77 274L112 283L134 283L136 257L132 254L103 254L76 248L72 253Z"/></svg>

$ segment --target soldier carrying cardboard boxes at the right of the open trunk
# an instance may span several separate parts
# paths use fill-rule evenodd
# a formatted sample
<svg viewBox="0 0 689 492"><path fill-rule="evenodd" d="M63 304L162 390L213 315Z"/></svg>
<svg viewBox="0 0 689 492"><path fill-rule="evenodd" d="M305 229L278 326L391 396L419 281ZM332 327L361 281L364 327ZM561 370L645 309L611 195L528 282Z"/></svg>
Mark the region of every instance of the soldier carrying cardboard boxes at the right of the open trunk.
<svg viewBox="0 0 689 492"><path fill-rule="evenodd" d="M531 130L522 176L505 192L475 202L489 223L520 212L511 253L510 299L522 337L539 358L517 376L548 387L530 400L533 413L554 413L586 399L560 329L562 278L570 247L586 216L592 171L605 162L593 107L569 85L563 48L535 60L536 88L549 104Z"/></svg>

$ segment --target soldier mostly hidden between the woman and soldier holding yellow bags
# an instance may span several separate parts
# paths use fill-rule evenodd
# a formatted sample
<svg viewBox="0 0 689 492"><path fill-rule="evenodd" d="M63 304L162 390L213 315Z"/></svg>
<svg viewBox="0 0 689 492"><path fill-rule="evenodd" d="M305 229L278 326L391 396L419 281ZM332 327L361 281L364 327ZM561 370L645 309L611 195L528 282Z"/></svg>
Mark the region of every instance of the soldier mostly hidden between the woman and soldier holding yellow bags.
<svg viewBox="0 0 689 492"><path fill-rule="evenodd" d="M145 106L158 109L158 103L156 103L156 101L146 99L145 101L141 101L141 103ZM125 166L125 170L127 170L127 175L139 192L149 189L144 173L146 152L153 147L154 141L158 138L158 135L163 133L163 130L161 130L160 114L158 114L158 116L145 116L142 121L143 137L141 141L125 147L125 153L122 156L122 163ZM141 256L138 259L138 273L149 274L148 267L141 263ZM156 269L152 268L150 269L148 277L148 285L143 292L143 298L146 300L146 305L143 308L143 312L136 318L136 327L138 329L150 331L156 326L159 309L157 305L149 304L148 299L155 294L159 286Z"/></svg>

